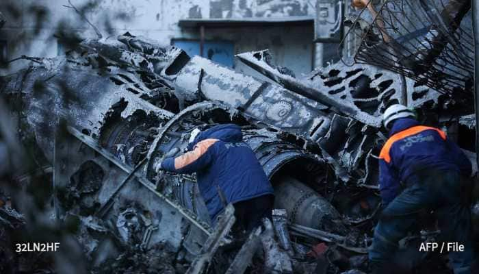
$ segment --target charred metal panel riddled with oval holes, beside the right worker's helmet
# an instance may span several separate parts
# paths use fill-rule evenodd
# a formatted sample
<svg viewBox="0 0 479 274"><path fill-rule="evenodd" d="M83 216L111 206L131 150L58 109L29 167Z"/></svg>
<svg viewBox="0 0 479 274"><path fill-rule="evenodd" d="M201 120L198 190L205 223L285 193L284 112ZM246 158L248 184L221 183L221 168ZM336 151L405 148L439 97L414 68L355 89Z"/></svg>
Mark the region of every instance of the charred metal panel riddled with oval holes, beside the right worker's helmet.
<svg viewBox="0 0 479 274"><path fill-rule="evenodd" d="M374 161L366 159L381 144L381 135L377 134L380 115L387 105L399 103L404 96L406 83L398 75L373 66L334 64L296 79L274 67L267 51L242 53L238 57L288 90L328 106L324 112L332 117L324 125L326 132L318 138L324 149L322 156L335 165L342 180L354 177L361 185L377 184L377 177L369 172Z"/></svg>

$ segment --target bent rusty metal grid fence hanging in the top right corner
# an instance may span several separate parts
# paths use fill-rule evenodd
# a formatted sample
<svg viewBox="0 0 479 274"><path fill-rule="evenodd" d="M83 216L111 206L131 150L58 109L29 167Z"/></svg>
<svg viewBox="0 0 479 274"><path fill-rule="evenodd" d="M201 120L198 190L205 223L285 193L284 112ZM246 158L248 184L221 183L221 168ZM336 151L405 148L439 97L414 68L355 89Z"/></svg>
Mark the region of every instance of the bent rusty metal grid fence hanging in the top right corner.
<svg viewBox="0 0 479 274"><path fill-rule="evenodd" d="M354 61L410 77L455 98L474 83L470 0L383 0L367 4L348 36L360 39Z"/></svg>

